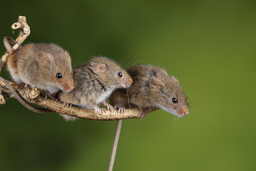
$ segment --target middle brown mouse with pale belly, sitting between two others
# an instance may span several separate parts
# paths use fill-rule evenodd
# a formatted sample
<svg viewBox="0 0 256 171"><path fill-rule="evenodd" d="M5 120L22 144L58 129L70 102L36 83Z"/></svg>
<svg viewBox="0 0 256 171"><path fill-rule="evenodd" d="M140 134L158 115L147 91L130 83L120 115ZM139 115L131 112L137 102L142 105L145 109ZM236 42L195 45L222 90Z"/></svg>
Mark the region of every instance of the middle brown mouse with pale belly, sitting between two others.
<svg viewBox="0 0 256 171"><path fill-rule="evenodd" d="M95 109L95 113L106 112L99 108L102 103L108 110L114 110L113 106L105 101L117 88L128 88L132 79L127 72L115 61L106 57L93 57L89 62L76 67L74 73L74 89L70 92L60 92L59 100L82 108ZM66 120L74 120L75 117L62 115Z"/></svg>

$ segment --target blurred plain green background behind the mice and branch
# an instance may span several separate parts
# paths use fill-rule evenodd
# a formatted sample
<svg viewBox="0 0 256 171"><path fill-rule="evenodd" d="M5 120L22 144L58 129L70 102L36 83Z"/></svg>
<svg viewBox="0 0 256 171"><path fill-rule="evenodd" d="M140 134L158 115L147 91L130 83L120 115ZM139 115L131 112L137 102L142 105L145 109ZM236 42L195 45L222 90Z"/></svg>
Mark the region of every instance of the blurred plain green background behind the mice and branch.
<svg viewBox="0 0 256 171"><path fill-rule="evenodd" d="M10 26L24 15L25 44L55 42L73 67L92 55L124 67L161 66L196 98L195 114L175 123L162 110L124 120L114 170L256 170L255 1L15 0L0 7L1 39L17 37ZM115 126L66 122L9 99L0 106L0 169L107 170Z"/></svg>

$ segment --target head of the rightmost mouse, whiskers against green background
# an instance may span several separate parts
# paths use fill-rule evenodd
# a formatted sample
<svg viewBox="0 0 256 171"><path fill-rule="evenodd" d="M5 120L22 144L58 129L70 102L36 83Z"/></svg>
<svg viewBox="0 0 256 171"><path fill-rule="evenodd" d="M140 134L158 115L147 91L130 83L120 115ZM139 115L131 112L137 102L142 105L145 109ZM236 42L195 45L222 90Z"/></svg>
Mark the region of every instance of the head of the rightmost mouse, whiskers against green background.
<svg viewBox="0 0 256 171"><path fill-rule="evenodd" d="M189 112L187 98L174 76L168 76L166 71L157 68L157 72L150 79L151 101L161 109L176 116L185 116Z"/></svg>

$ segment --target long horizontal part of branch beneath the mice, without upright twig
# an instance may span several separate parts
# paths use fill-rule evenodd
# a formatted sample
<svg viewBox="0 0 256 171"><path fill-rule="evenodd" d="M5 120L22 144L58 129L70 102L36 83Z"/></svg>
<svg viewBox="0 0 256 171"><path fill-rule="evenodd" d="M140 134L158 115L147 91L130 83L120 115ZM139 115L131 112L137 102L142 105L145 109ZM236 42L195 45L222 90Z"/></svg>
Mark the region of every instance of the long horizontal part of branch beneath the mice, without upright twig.
<svg viewBox="0 0 256 171"><path fill-rule="evenodd" d="M137 118L139 119L141 117L141 114L138 115L140 112L139 108L133 108L133 109L127 109L126 112L123 114L117 113L118 110L114 111L107 111L106 113L101 113L99 116L95 114L95 110L91 109L85 109L85 108L78 108L76 106L72 106L71 108L65 108L63 107L63 102L53 100L51 98L45 99L45 96L43 96L40 93L40 90L37 88L30 89L25 88L25 86L18 86L16 83L7 80L11 86L16 90L20 96L24 98L24 100L40 105L44 108L50 109L54 112L62 113L65 115L73 116L76 118L81 119L89 119L89 120L119 120L119 119L131 119L131 118ZM5 94L9 94L10 97L12 97L12 93L7 88L6 84L2 81L0 81L0 92L3 92ZM3 98L0 101L4 101ZM147 109L146 113L150 113L157 110L156 108Z"/></svg>

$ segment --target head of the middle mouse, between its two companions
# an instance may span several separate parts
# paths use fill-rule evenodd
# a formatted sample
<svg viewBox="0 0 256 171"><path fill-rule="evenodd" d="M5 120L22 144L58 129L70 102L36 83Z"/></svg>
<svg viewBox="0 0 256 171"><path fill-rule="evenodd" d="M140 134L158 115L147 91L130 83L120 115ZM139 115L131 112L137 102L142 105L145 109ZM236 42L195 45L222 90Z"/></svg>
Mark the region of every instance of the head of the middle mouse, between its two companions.
<svg viewBox="0 0 256 171"><path fill-rule="evenodd" d="M106 57L94 57L91 59L93 72L99 81L108 87L129 88L132 84L130 75L115 61Z"/></svg>

